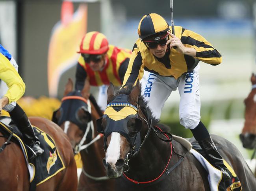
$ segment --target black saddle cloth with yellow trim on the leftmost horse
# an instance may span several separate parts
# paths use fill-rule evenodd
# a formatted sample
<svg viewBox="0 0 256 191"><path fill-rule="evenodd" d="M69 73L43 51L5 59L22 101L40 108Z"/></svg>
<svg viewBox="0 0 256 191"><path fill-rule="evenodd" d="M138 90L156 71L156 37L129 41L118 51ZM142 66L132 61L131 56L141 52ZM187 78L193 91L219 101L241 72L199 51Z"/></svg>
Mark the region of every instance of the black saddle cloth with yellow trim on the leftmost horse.
<svg viewBox="0 0 256 191"><path fill-rule="evenodd" d="M45 152L42 155L36 156L32 162L29 162L27 154L28 152L24 142L22 141L22 133L11 121L10 117L0 117L0 131L7 138L9 137L10 133L13 133L11 141L18 144L22 149L30 175L30 183L33 185L33 189L32 186L30 186L30 191L34 190L36 186L42 184L46 180L56 175L58 172L65 169L65 165L58 153L54 140L50 137L50 135L46 134L38 127L33 126L33 129L35 131L35 135L40 140L40 146ZM5 149L8 149L8 146Z"/></svg>

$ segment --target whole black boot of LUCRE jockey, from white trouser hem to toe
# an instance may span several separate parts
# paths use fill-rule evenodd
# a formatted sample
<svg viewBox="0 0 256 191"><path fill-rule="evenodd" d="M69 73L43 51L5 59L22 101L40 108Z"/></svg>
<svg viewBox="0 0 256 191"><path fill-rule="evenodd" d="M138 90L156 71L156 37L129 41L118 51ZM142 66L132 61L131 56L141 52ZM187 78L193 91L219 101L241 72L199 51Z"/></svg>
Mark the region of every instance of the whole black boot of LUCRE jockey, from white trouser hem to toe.
<svg viewBox="0 0 256 191"><path fill-rule="evenodd" d="M208 160L212 166L219 169L223 173L222 180L230 180L231 178L228 174L227 167L223 163L223 158L219 154L213 140L211 140L211 136L204 124L200 121L195 129L191 129L191 132L193 133L198 144L202 147L206 160Z"/></svg>

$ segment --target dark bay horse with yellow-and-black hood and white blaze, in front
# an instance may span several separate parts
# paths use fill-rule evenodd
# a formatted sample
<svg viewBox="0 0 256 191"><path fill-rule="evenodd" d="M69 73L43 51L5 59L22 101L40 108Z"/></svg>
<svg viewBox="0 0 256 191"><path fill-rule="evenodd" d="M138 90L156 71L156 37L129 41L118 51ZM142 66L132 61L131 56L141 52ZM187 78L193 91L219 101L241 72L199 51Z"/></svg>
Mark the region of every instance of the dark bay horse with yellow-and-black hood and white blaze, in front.
<svg viewBox="0 0 256 191"><path fill-rule="evenodd" d="M157 121L140 91L137 82L114 95L111 84L105 114L97 120L98 131L104 133L107 175L117 178L115 190L210 190L208 173L198 160L176 140L169 142L171 134L162 135L161 127L154 127ZM238 149L217 135L212 138L217 147L222 147L219 152L236 172L243 190L254 190L256 179Z"/></svg>

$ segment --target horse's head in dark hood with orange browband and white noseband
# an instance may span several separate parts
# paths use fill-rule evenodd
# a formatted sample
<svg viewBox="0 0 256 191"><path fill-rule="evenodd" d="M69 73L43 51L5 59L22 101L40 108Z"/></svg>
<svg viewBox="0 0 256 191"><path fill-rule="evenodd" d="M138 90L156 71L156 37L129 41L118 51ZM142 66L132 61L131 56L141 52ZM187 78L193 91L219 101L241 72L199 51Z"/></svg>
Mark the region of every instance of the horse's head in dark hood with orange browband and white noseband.
<svg viewBox="0 0 256 191"><path fill-rule="evenodd" d="M68 135L75 153L79 153L81 146L94 137L89 89L89 83L85 82L82 91L73 91L73 82L69 79L61 106L52 117L53 122Z"/></svg>

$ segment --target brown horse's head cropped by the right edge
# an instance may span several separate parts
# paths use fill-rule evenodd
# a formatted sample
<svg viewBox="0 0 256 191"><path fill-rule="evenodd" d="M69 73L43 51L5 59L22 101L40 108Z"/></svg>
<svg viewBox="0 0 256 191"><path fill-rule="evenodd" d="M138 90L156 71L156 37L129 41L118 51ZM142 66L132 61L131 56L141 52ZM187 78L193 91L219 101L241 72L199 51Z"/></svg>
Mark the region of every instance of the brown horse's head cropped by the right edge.
<svg viewBox="0 0 256 191"><path fill-rule="evenodd" d="M245 124L240 140L243 147L254 149L256 147L256 77L252 74L250 78L252 82L252 91L245 99Z"/></svg>

